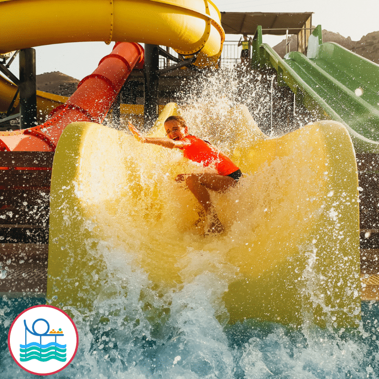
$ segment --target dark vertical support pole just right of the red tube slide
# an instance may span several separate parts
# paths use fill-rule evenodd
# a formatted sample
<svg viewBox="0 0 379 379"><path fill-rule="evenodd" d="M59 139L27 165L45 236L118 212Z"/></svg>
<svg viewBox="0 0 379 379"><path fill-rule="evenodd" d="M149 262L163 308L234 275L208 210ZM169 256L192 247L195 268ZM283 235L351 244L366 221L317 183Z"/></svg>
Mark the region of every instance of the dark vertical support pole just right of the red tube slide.
<svg viewBox="0 0 379 379"><path fill-rule="evenodd" d="M145 44L145 129L152 127L158 116L159 46Z"/></svg>

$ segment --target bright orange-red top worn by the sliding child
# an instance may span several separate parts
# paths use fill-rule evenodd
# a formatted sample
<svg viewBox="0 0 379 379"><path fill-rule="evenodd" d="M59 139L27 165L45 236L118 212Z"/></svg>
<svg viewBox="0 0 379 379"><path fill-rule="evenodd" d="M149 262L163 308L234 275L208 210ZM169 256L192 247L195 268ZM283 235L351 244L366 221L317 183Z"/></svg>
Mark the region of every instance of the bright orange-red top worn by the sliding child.
<svg viewBox="0 0 379 379"><path fill-rule="evenodd" d="M190 145L182 149L185 158L202 163L204 167L215 162L217 172L223 176L239 170L229 157L216 150L212 145L195 136L188 135L185 138L190 141Z"/></svg>

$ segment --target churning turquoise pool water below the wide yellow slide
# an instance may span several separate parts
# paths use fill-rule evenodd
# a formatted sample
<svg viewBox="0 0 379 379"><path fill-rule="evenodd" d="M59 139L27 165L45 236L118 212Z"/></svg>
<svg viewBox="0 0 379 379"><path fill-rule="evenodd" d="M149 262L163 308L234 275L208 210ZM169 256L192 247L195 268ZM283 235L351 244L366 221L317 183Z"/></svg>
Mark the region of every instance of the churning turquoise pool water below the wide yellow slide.
<svg viewBox="0 0 379 379"><path fill-rule="evenodd" d="M183 295L183 294L182 294ZM194 300L194 299L192 299ZM13 319L44 299L0 303L0 378L34 378L20 369L7 348ZM103 304L104 305L104 304ZM76 312L79 349L73 362L51 378L253 379L378 378L379 304L362 303L362 322L353 330L298 330L246 320L224 327L206 302L178 306L165 321L126 320L105 308ZM197 307L196 307L197 305Z"/></svg>

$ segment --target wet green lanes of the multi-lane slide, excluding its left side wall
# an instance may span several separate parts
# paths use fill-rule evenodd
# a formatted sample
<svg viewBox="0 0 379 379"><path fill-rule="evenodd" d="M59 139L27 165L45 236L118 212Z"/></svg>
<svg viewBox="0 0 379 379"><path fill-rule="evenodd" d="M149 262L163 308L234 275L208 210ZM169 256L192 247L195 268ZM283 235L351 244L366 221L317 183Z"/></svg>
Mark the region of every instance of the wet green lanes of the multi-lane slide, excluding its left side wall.
<svg viewBox="0 0 379 379"><path fill-rule="evenodd" d="M289 58L285 62L347 125L379 141L378 65L331 42L320 46L317 58L299 52Z"/></svg>

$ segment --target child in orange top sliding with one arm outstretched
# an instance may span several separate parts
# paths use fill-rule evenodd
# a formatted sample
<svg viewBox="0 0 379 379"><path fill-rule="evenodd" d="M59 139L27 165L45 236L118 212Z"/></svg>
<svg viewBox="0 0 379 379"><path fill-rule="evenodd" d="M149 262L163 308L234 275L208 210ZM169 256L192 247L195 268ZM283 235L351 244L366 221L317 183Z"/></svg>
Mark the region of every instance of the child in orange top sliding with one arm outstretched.
<svg viewBox="0 0 379 379"><path fill-rule="evenodd" d="M180 116L170 116L164 122L167 138L144 137L130 122L129 129L134 137L143 143L163 146L169 149L180 149L184 156L192 161L202 163L204 167L215 162L218 174L179 174L177 182L185 182L205 211L208 219L208 233L222 233L222 225L208 189L224 192L234 187L242 173L241 170L222 152L217 151L208 142L188 134L186 121Z"/></svg>

